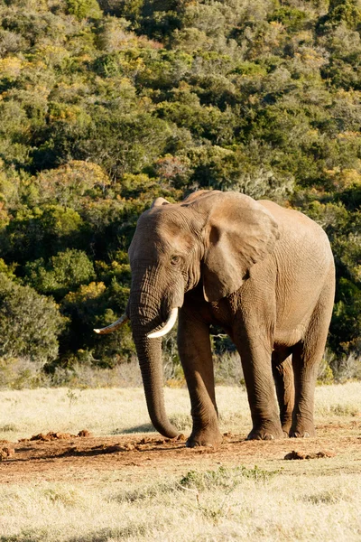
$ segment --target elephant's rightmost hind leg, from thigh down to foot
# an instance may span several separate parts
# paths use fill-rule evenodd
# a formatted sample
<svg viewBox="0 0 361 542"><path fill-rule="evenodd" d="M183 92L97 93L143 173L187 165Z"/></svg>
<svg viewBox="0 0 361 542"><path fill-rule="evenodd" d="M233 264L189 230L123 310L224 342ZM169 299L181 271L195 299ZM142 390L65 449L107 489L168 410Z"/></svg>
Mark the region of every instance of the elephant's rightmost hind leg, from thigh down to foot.
<svg viewBox="0 0 361 542"><path fill-rule="evenodd" d="M315 308L303 341L292 349L295 406L290 436L293 437L316 435L313 422L314 393L319 362L325 350L333 298L333 282L330 280L319 297L319 304Z"/></svg>

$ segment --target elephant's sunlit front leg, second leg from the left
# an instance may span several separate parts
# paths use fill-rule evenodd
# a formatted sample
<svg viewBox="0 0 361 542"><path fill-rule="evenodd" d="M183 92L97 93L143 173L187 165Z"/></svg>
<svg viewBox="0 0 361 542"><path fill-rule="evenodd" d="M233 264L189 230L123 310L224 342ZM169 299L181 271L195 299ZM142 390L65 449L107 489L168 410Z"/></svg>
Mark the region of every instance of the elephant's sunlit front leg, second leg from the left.
<svg viewBox="0 0 361 542"><path fill-rule="evenodd" d="M272 347L265 346L267 339L253 334L243 334L236 340L242 360L253 429L248 440L283 438L272 373Z"/></svg>

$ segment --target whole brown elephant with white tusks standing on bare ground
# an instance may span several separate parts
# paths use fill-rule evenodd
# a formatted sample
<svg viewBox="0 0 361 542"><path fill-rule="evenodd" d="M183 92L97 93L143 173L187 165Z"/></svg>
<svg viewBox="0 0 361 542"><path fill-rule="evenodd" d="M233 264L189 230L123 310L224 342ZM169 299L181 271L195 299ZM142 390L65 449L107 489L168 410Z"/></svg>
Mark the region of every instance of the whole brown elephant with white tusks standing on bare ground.
<svg viewBox="0 0 361 542"><path fill-rule="evenodd" d="M153 426L177 430L165 412L162 335L178 317L178 349L190 393L187 446L222 441L209 328L241 358L253 428L248 439L315 435L314 390L335 294L329 239L297 210L239 192L157 198L140 216L128 251L130 319ZM278 401L278 406L277 406Z"/></svg>

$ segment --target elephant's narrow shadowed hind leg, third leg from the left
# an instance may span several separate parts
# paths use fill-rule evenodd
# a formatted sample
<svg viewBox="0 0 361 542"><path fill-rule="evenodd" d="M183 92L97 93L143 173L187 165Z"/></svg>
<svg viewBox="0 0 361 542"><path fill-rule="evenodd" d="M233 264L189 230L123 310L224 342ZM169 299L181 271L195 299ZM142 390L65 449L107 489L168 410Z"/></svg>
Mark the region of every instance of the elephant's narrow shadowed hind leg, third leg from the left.
<svg viewBox="0 0 361 542"><path fill-rule="evenodd" d="M280 407L282 431L285 436L288 436L291 430L294 406L294 379L289 349L273 350L272 371Z"/></svg>

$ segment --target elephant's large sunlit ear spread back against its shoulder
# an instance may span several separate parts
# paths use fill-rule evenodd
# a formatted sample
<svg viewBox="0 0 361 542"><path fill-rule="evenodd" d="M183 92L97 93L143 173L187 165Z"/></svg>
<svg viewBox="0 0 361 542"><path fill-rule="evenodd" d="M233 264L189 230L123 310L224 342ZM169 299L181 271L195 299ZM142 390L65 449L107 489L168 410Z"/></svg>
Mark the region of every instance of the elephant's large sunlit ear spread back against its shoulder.
<svg viewBox="0 0 361 542"><path fill-rule="evenodd" d="M218 301L236 292L250 267L273 252L278 225L263 205L237 192L203 193L192 206L207 213L203 290L207 301Z"/></svg>

